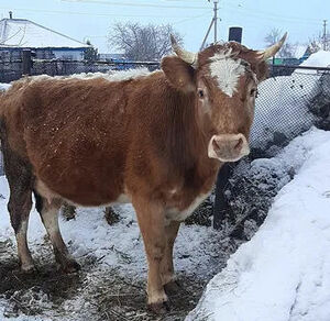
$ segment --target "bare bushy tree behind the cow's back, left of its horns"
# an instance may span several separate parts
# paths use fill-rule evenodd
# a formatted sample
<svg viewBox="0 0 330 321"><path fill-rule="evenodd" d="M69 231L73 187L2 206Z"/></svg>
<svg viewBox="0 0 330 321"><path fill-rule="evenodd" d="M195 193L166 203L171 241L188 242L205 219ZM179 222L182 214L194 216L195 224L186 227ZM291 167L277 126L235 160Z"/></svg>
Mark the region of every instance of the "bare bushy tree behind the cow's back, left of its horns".
<svg viewBox="0 0 330 321"><path fill-rule="evenodd" d="M179 44L183 43L170 24L116 23L109 34L109 44L122 49L132 60L160 60L170 52L170 34Z"/></svg>

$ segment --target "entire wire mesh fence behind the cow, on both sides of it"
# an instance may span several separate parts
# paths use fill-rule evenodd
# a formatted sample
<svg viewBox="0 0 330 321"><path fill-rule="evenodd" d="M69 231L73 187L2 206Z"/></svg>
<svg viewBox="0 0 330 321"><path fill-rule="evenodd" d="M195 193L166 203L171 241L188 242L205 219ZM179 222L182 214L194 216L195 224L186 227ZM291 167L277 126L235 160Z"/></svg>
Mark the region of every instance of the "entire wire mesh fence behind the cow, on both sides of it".
<svg viewBox="0 0 330 321"><path fill-rule="evenodd" d="M33 59L31 75L68 76L81 73L112 73L136 67L157 69L156 62L73 62ZM22 60L0 62L0 82L22 77ZM273 157L294 137L312 125L330 130L330 68L270 66L271 77L258 87L255 120L251 132L251 154L239 164L228 164L219 173L213 226L231 226L242 233L251 219L264 220L280 184L276 174L263 171L251 178L251 162ZM288 174L289 176L290 174ZM200 213L200 211L199 211ZM210 222L209 219L206 220ZM224 228L223 228L224 226Z"/></svg>

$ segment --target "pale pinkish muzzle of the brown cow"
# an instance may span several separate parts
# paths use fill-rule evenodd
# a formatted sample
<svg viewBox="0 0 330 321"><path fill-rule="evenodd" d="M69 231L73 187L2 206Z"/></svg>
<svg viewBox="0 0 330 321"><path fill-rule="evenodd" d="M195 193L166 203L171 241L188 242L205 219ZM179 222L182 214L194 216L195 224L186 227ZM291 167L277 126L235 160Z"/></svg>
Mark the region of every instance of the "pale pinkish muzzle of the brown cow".
<svg viewBox="0 0 330 321"><path fill-rule="evenodd" d="M209 142L208 156L220 162L237 162L249 154L250 147L243 134L213 135Z"/></svg>

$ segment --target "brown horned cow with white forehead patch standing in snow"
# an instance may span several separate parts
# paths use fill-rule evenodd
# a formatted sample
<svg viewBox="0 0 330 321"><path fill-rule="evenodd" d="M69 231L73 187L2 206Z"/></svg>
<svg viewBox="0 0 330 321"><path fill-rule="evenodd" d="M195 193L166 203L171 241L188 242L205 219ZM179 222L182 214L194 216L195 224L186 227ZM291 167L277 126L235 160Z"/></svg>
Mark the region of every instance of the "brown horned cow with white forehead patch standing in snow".
<svg viewBox="0 0 330 321"><path fill-rule="evenodd" d="M21 268L34 268L26 242L32 192L64 270L78 264L58 229L63 201L130 201L148 263L148 305L161 309L175 283L179 224L209 195L220 166L249 154L256 87L284 38L263 52L230 42L199 54L173 40L177 55L135 79L14 82L0 97L0 135Z"/></svg>

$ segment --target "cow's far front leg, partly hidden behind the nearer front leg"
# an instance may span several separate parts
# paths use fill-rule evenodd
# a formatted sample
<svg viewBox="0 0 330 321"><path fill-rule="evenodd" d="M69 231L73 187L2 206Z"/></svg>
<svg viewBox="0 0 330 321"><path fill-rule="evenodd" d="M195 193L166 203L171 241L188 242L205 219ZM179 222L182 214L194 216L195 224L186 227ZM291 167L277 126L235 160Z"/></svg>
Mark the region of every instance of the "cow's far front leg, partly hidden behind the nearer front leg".
<svg viewBox="0 0 330 321"><path fill-rule="evenodd" d="M180 222L172 221L165 228L166 247L165 247L165 254L161 265L161 272L162 272L162 283L165 287L165 290L168 292L175 291L177 289L177 283L174 274L174 266L173 266L173 246L174 246L177 232L179 230L179 225Z"/></svg>

